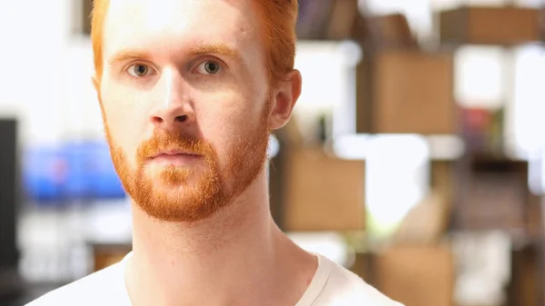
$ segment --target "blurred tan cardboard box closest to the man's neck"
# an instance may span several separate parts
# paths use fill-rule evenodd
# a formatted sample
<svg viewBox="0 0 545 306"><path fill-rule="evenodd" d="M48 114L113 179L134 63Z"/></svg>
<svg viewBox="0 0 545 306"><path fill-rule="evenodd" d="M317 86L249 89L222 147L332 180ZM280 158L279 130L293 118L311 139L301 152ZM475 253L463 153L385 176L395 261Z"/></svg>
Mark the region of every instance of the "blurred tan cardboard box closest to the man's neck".
<svg viewBox="0 0 545 306"><path fill-rule="evenodd" d="M284 231L357 231L365 226L365 165L322 149L286 154L282 203Z"/></svg>

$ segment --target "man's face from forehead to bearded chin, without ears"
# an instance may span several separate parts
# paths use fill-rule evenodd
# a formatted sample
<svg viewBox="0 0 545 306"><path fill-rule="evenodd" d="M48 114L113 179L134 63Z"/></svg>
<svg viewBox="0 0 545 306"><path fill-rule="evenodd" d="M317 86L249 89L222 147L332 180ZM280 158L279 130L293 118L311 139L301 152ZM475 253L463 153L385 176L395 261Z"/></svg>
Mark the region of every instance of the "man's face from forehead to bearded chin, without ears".
<svg viewBox="0 0 545 306"><path fill-rule="evenodd" d="M125 190L199 221L263 171L272 95L251 0L111 0L99 88Z"/></svg>

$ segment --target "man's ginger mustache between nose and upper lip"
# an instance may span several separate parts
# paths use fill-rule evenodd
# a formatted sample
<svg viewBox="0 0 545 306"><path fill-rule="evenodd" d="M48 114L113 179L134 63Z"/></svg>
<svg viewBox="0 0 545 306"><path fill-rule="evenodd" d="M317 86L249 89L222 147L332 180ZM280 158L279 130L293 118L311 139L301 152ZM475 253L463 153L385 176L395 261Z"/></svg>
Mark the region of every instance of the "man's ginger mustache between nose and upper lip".
<svg viewBox="0 0 545 306"><path fill-rule="evenodd" d="M210 143L191 133L156 132L152 138L138 146L136 157L142 163L157 154L178 150L207 157L210 157L213 151Z"/></svg>

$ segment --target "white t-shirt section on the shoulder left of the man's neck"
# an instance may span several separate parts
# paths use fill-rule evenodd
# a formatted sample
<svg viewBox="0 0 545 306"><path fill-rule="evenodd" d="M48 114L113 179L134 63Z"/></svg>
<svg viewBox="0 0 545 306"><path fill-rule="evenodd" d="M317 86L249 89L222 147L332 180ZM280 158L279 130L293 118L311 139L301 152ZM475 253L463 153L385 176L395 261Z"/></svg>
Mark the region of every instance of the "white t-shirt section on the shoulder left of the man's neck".
<svg viewBox="0 0 545 306"><path fill-rule="evenodd" d="M124 269L117 263L45 293L26 306L119 305L116 301L123 300L126 295L123 275Z"/></svg>

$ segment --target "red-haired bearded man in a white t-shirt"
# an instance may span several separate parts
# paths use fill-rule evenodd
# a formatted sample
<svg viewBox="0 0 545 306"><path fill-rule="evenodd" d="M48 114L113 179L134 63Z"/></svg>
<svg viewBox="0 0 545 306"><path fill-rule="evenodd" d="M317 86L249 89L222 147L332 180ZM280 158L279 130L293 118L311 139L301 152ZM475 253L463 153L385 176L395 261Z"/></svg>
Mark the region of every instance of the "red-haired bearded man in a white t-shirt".
<svg viewBox="0 0 545 306"><path fill-rule="evenodd" d="M31 305L399 305L272 222L269 133L301 93L295 0L96 0L94 85L133 252Z"/></svg>

